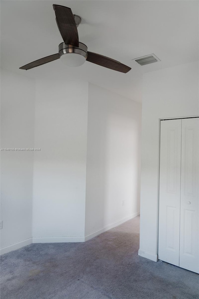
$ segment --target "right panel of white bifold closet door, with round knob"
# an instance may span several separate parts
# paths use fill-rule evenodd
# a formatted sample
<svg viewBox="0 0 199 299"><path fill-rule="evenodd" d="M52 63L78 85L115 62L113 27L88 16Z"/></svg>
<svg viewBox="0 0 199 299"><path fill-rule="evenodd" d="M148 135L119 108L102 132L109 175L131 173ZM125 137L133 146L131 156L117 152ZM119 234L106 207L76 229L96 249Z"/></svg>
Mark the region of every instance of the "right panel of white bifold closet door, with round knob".
<svg viewBox="0 0 199 299"><path fill-rule="evenodd" d="M199 273L199 118L182 119L180 260Z"/></svg>

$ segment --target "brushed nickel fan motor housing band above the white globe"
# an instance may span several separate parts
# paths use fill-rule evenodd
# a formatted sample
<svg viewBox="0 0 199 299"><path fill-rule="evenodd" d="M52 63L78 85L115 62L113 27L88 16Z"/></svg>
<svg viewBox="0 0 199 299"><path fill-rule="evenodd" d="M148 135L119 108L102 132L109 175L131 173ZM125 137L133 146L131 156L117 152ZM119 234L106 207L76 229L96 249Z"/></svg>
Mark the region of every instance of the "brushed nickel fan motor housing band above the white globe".
<svg viewBox="0 0 199 299"><path fill-rule="evenodd" d="M74 45L68 45L65 43L61 43L59 44L59 58L67 53L76 53L76 54L80 54L82 56L85 57L85 59L87 58L87 46L85 44L82 44L79 42L79 47L76 47Z"/></svg>

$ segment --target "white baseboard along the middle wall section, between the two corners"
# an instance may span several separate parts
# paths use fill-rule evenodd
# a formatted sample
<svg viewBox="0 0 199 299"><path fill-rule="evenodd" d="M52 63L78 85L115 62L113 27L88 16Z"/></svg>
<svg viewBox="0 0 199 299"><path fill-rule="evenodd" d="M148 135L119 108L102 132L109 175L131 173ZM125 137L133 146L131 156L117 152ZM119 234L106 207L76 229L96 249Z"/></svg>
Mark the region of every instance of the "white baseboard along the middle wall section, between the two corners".
<svg viewBox="0 0 199 299"><path fill-rule="evenodd" d="M83 236L71 237L33 237L32 243L68 243L68 242L84 242Z"/></svg>

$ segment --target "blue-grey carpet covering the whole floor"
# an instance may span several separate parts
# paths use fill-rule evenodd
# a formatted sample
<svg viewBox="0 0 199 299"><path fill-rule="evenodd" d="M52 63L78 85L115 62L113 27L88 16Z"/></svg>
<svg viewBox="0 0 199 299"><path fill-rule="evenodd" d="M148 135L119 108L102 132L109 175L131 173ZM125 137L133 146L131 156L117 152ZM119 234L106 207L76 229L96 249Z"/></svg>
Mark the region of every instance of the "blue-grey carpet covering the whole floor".
<svg viewBox="0 0 199 299"><path fill-rule="evenodd" d="M1 256L1 299L199 299L199 275L137 255L139 216L85 243Z"/></svg>

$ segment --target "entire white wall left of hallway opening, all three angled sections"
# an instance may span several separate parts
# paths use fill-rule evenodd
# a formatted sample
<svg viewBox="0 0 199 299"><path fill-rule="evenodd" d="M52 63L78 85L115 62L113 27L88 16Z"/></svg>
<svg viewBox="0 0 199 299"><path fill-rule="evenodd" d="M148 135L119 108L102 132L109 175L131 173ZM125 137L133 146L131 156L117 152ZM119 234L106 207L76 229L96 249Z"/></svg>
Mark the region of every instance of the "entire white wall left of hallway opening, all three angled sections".
<svg viewBox="0 0 199 299"><path fill-rule="evenodd" d="M40 148L1 152L1 253L84 241L139 214L139 103L88 82L1 79L1 148Z"/></svg>

